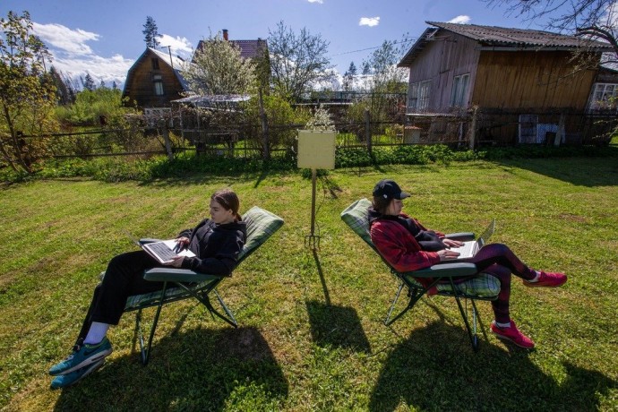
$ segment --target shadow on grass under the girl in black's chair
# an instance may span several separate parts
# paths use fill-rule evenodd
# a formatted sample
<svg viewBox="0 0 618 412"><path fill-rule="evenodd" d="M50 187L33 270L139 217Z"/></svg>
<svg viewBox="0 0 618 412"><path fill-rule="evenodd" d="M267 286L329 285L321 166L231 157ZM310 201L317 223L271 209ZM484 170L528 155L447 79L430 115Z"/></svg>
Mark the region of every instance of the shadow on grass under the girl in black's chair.
<svg viewBox="0 0 618 412"><path fill-rule="evenodd" d="M65 389L55 410L277 409L288 381L259 330L188 330L139 353L107 361Z"/></svg>

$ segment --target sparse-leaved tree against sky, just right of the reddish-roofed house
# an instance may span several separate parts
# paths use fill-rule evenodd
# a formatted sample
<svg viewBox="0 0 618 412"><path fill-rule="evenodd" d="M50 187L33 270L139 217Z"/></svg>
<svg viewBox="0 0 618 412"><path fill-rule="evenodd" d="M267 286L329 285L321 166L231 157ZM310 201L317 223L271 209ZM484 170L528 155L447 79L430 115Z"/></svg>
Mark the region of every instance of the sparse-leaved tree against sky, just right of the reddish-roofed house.
<svg viewBox="0 0 618 412"><path fill-rule="evenodd" d="M330 81L329 42L305 27L298 34L279 21L269 29L270 72L274 92L295 102L319 82Z"/></svg>

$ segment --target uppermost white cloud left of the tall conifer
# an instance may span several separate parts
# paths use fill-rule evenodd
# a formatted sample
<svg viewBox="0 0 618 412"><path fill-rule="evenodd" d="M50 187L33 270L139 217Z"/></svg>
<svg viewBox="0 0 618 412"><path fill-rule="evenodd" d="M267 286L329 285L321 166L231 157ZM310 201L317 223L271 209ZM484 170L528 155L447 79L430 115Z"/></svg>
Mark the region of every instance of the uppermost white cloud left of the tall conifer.
<svg viewBox="0 0 618 412"><path fill-rule="evenodd" d="M86 42L97 41L100 37L97 33L82 29L71 30L62 24L39 24L32 22L32 29L47 45L73 55L90 55L92 49Z"/></svg>

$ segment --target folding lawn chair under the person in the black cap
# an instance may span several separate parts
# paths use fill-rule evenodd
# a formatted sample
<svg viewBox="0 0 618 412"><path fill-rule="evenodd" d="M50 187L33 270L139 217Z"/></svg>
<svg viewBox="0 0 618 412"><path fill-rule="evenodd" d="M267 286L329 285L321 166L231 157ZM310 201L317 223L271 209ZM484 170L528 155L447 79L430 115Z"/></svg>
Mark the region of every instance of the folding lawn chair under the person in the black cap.
<svg viewBox="0 0 618 412"><path fill-rule="evenodd" d="M371 202L368 199L358 200L341 212L341 219L382 258L382 255L378 252L375 245L373 245L369 233L369 216L367 210L370 206ZM473 240L475 238L473 233L456 233L446 236L457 240ZM386 262L384 258L382 258L382 262L384 262L391 270L391 273L399 279L399 289L397 290L397 294L384 320L385 325L388 326L392 322L397 321L404 313L412 309L412 307L416 305L416 302L418 302L428 290L435 287L438 291L437 295L455 298L459 307L459 313L461 313L461 317L466 324L472 348L474 348L475 351L478 350L476 322L479 323L481 328L483 328L483 325L480 323L480 316L476 310L475 300L495 300L500 293L500 282L498 279L486 273L479 273L474 263L441 263L423 270L399 272L395 270L389 262ZM470 279L458 283L453 281L454 278L461 276L469 276ZM415 278L432 278L433 282L425 288ZM403 288L408 288L408 305L391 319L391 313L399 300L399 295ZM470 299L472 303L472 325L470 325L468 321L468 314L464 310L463 305L461 305L460 299L462 298ZM485 333L485 330L483 331Z"/></svg>

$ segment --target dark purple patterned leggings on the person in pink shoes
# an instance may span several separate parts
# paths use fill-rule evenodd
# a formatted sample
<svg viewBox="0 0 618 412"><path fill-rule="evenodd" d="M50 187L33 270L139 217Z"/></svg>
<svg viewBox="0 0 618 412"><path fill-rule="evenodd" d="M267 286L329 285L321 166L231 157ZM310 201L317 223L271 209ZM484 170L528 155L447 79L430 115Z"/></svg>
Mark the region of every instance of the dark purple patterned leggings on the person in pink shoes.
<svg viewBox="0 0 618 412"><path fill-rule="evenodd" d="M485 245L469 259L468 262L476 263L476 267L488 273L500 281L500 293L498 298L492 301L495 322L511 322L509 314L509 298L511 296L511 273L518 278L531 280L536 272L521 262L507 245Z"/></svg>

